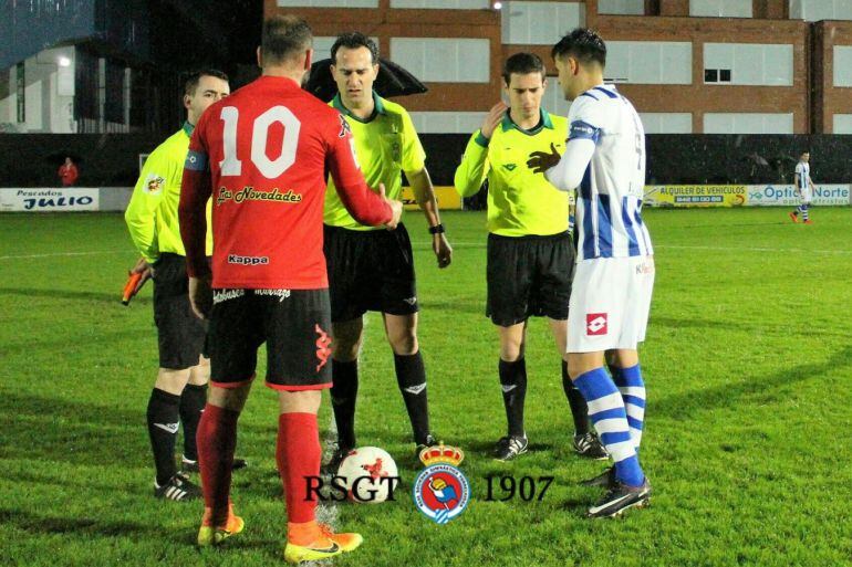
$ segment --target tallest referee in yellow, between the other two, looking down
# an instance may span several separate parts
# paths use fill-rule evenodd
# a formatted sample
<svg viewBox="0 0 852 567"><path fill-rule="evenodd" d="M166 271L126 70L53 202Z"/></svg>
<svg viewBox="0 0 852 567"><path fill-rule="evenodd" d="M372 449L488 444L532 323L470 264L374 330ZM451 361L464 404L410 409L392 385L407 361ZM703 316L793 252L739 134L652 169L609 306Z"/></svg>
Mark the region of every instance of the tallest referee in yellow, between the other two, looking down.
<svg viewBox="0 0 852 567"><path fill-rule="evenodd" d="M337 95L330 103L346 118L356 160L370 187L384 183L388 199L399 199L402 176L426 216L438 267L449 265L453 249L444 234L438 206L425 167L426 154L408 113L373 92L378 48L362 33L337 38L331 49ZM333 186L331 180L330 186ZM326 464L336 472L355 447L355 398L363 315L382 313L394 366L417 449L435 444L429 431L426 370L417 343L417 292L408 232L401 222L387 231L359 224L333 187L325 192L325 259L329 267L334 339L331 397L337 424L337 450Z"/></svg>

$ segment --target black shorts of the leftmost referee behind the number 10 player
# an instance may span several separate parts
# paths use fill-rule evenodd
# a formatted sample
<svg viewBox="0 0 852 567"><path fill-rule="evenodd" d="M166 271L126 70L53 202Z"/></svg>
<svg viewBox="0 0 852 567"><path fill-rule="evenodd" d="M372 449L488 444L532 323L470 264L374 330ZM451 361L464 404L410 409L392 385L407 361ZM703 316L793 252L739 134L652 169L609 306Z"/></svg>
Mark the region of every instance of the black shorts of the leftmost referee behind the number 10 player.
<svg viewBox="0 0 852 567"><path fill-rule="evenodd" d="M164 252L154 263L154 323L159 367L185 370L198 366L207 330L189 304L186 258Z"/></svg>

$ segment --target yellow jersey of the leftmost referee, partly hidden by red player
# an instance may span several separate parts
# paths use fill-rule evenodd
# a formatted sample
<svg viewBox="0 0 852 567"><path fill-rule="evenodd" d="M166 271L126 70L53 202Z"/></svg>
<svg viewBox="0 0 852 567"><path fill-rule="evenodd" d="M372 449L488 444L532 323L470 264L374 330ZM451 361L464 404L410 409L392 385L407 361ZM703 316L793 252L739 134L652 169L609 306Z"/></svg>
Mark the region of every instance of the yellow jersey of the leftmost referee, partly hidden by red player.
<svg viewBox="0 0 852 567"><path fill-rule="evenodd" d="M148 156L124 213L133 244L148 263L156 262L162 252L186 255L184 243L180 241L177 206L180 202L180 180L184 177L184 164L189 151L193 128L191 124L185 122L183 128ZM207 229L207 255L211 255L209 202Z"/></svg>

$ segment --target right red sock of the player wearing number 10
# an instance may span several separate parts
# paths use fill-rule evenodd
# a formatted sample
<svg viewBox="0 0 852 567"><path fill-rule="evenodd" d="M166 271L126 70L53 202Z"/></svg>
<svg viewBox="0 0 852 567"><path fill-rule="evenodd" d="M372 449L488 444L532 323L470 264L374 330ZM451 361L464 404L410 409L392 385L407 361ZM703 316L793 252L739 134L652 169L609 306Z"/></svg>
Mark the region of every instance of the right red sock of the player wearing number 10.
<svg viewBox="0 0 852 567"><path fill-rule="evenodd" d="M284 483L287 519L301 524L314 519L315 500L305 497L306 477L320 474L320 433L315 413L281 413L278 418L276 460Z"/></svg>

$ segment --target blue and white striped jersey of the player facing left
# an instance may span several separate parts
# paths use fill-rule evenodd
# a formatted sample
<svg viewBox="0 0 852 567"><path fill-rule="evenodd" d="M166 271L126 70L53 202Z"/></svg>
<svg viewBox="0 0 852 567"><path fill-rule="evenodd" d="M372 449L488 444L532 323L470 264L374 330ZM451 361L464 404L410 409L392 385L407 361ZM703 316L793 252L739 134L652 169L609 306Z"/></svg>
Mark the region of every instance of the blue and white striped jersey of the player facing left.
<svg viewBox="0 0 852 567"><path fill-rule="evenodd" d="M599 85L573 101L568 120L569 143L563 160L576 155L571 141L594 144L576 188L578 261L653 254L651 235L642 220L645 130L635 108L614 86Z"/></svg>

